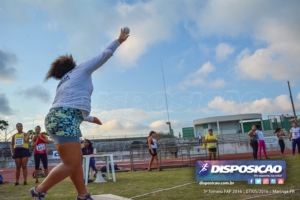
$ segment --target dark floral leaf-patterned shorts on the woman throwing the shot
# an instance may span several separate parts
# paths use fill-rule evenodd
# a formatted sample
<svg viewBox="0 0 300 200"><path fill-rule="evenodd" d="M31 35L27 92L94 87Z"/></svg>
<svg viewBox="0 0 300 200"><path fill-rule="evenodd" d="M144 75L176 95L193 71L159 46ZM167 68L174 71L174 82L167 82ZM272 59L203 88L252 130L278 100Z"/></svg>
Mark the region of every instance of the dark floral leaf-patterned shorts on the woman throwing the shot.
<svg viewBox="0 0 300 200"><path fill-rule="evenodd" d="M79 126L83 121L80 110L67 107L52 108L45 118L46 132L50 135L82 137Z"/></svg>

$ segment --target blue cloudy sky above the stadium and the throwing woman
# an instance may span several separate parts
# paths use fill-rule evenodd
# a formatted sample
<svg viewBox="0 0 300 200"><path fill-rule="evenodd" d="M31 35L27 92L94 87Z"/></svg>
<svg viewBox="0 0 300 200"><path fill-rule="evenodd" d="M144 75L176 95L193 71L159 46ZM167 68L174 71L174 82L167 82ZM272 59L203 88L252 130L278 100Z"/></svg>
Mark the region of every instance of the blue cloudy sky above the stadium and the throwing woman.
<svg viewBox="0 0 300 200"><path fill-rule="evenodd" d="M130 37L93 73L84 136L175 135L199 118L300 111L300 1L96 1L0 3L0 119L41 125L55 96L51 62L77 65ZM167 95L164 92L164 81Z"/></svg>

